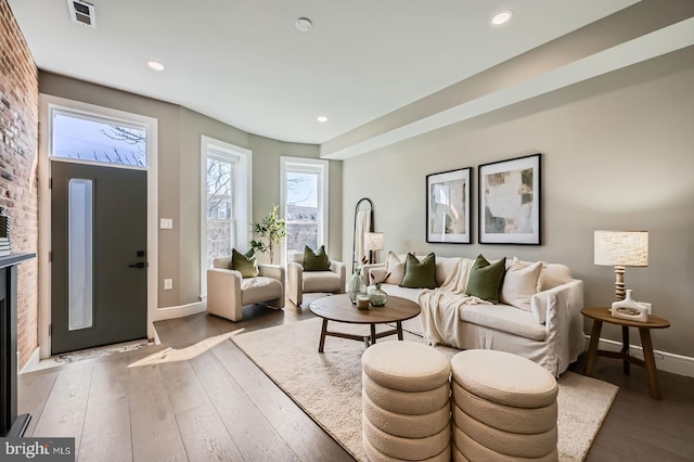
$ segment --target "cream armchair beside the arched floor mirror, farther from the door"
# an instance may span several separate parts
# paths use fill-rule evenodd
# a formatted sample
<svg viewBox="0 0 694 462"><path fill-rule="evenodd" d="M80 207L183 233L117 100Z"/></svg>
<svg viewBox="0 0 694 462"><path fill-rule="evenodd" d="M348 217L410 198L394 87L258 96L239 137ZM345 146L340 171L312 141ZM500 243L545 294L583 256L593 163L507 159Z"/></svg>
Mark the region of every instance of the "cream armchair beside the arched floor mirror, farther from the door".
<svg viewBox="0 0 694 462"><path fill-rule="evenodd" d="M331 260L330 271L304 271L304 254L296 253L287 264L290 300L296 306L304 301L304 294L313 292L345 293L345 264Z"/></svg>

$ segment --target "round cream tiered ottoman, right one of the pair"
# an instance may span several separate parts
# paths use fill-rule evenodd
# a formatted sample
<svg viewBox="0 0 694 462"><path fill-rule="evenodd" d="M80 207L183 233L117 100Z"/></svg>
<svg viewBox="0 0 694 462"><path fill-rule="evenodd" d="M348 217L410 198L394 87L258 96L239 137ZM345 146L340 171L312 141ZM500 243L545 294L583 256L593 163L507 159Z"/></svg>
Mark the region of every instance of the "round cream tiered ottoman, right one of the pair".
<svg viewBox="0 0 694 462"><path fill-rule="evenodd" d="M504 351L474 349L451 360L453 459L556 461L556 381Z"/></svg>

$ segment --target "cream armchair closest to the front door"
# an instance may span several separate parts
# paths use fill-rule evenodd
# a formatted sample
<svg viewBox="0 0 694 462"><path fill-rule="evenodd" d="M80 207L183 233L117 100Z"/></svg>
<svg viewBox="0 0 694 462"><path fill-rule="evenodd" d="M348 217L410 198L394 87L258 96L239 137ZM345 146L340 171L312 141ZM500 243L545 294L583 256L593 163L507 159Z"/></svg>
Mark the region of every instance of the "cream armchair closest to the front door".
<svg viewBox="0 0 694 462"><path fill-rule="evenodd" d="M284 308L284 268L258 265L259 274L242 278L241 272L229 269L231 256L215 258L207 270L207 312L240 321L243 306L259 304Z"/></svg>

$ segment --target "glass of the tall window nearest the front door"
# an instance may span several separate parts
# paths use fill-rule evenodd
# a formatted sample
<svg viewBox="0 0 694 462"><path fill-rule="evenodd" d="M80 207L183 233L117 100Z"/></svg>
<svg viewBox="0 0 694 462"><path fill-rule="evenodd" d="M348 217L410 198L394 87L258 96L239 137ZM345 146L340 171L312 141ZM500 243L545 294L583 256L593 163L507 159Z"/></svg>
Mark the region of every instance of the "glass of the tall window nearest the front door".
<svg viewBox="0 0 694 462"><path fill-rule="evenodd" d="M233 206L234 163L207 157L207 268L213 259L231 255L234 242Z"/></svg>

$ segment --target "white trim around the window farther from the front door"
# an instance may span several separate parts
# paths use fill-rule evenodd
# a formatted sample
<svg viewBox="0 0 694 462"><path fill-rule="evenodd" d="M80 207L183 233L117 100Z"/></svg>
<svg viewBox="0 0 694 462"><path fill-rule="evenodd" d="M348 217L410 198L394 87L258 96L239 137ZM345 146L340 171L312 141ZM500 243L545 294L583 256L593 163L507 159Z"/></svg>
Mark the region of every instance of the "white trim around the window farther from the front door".
<svg viewBox="0 0 694 462"><path fill-rule="evenodd" d="M318 220L318 243L325 245L327 249L329 229L327 229L327 204L330 203L329 192L329 167L330 163L325 159L306 158L306 157L280 157L280 214L286 218L286 174L287 171L307 171L319 174L319 194L318 210L320 219ZM286 239L282 240L281 265L286 266Z"/></svg>

